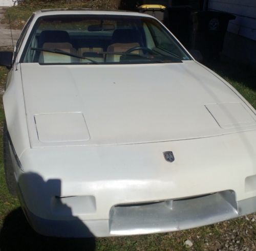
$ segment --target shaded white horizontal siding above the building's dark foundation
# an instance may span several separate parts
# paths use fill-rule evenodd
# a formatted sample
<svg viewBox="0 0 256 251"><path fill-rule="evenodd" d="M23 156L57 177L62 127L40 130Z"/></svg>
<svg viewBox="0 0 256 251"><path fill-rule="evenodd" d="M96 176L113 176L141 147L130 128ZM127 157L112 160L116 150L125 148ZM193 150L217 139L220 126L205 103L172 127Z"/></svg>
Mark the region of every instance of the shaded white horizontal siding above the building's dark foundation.
<svg viewBox="0 0 256 251"><path fill-rule="evenodd" d="M228 31L256 40L256 0L209 0L209 10L237 16L230 20Z"/></svg>

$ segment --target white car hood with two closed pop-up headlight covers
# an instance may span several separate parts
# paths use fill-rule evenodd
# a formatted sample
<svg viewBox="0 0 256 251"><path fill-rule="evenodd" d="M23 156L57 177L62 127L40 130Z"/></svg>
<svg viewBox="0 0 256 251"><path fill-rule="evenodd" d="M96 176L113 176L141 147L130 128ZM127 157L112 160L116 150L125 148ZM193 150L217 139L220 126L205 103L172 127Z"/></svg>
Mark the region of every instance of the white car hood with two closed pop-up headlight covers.
<svg viewBox="0 0 256 251"><path fill-rule="evenodd" d="M21 65L32 147L135 144L255 129L255 114L195 61Z"/></svg>

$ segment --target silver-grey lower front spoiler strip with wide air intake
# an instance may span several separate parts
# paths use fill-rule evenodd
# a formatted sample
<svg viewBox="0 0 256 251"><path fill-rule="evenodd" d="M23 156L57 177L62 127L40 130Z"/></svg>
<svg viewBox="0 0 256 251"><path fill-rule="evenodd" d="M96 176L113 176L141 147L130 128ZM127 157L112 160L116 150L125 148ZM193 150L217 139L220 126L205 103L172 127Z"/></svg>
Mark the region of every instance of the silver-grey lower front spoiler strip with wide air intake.
<svg viewBox="0 0 256 251"><path fill-rule="evenodd" d="M233 203L234 196L234 192L228 190L173 202L120 205L111 209L110 219L102 220L80 220L78 217L50 220L34 215L24 204L23 210L33 229L41 235L108 237L191 229L256 212L256 196Z"/></svg>

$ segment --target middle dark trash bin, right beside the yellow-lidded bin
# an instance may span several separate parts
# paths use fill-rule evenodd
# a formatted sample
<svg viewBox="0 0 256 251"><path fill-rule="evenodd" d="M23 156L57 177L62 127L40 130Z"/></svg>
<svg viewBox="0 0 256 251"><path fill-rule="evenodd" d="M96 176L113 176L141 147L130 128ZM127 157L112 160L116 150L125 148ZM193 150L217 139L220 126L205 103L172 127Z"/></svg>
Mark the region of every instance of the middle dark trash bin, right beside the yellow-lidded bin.
<svg viewBox="0 0 256 251"><path fill-rule="evenodd" d="M194 11L190 6L175 6L167 8L167 18L164 25L189 48L192 29L191 13Z"/></svg>

